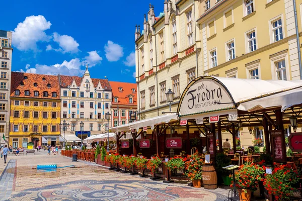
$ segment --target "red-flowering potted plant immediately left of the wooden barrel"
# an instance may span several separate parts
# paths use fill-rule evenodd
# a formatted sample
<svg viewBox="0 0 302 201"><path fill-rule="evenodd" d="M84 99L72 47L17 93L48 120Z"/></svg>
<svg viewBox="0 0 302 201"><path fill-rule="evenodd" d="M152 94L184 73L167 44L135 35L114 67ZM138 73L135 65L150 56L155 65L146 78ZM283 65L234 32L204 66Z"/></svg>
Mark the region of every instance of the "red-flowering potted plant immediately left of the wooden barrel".
<svg viewBox="0 0 302 201"><path fill-rule="evenodd" d="M185 162L185 175L190 178L194 187L200 188L202 185L202 158L198 153L188 156L189 161Z"/></svg>

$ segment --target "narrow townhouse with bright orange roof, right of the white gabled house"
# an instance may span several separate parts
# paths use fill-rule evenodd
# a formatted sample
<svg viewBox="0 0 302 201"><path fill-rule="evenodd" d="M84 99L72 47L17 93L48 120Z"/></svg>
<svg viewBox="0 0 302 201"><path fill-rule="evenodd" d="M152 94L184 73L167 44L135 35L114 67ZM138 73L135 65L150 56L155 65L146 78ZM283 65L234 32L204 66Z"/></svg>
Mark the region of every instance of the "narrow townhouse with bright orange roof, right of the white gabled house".
<svg viewBox="0 0 302 201"><path fill-rule="evenodd" d="M112 89L111 124L119 126L136 121L137 85L110 81L110 86Z"/></svg>

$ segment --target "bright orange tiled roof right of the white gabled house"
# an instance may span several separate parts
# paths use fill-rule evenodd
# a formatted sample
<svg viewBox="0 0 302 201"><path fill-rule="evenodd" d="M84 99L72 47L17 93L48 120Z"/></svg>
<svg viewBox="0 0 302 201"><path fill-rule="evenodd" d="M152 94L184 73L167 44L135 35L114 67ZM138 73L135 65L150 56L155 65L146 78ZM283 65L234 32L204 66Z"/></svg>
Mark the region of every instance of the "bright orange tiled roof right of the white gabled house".
<svg viewBox="0 0 302 201"><path fill-rule="evenodd" d="M127 82L116 82L110 81L111 89L112 89L112 99L114 101L114 97L118 97L118 103L112 102L115 105L131 105L137 106L137 84L135 83L127 83ZM119 87L122 87L122 91L119 90ZM132 92L132 89L135 89L135 92ZM129 96L133 96L133 104L129 104Z"/></svg>

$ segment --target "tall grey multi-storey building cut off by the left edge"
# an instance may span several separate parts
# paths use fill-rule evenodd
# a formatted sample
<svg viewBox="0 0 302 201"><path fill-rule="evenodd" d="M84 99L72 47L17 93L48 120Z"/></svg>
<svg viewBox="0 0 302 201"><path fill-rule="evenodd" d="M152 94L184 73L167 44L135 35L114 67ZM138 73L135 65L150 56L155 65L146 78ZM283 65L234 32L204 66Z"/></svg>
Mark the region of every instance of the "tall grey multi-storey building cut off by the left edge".
<svg viewBox="0 0 302 201"><path fill-rule="evenodd" d="M0 141L2 145L9 142L12 54L12 32L0 30ZM3 134L5 140L2 138Z"/></svg>

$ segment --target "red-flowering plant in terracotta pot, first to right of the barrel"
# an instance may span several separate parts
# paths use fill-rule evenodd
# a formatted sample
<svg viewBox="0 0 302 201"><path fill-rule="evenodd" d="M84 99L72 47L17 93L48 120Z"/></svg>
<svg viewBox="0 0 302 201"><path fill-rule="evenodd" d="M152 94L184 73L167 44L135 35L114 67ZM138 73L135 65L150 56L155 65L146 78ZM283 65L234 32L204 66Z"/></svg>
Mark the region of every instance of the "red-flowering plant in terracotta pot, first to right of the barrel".
<svg viewBox="0 0 302 201"><path fill-rule="evenodd" d="M251 200L252 191L257 190L264 172L264 169L255 163L247 162L239 167L235 173L235 181L240 200Z"/></svg>

